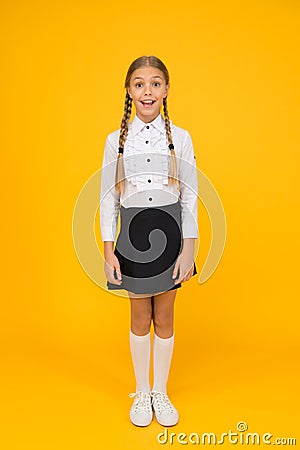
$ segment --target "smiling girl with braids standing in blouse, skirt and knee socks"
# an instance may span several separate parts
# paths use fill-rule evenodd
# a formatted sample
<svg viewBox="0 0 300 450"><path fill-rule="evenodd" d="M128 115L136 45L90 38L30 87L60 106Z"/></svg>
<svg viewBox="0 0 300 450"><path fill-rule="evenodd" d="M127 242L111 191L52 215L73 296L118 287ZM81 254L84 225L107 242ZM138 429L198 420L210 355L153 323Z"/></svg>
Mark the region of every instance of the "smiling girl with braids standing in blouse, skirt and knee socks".
<svg viewBox="0 0 300 450"><path fill-rule="evenodd" d="M108 289L125 289L131 305L130 350L136 378L134 425L178 422L167 394L177 289L197 273L197 175L189 133L172 124L169 74L155 56L130 65L121 128L106 139L100 225ZM136 114L130 123L132 103ZM163 116L161 108L163 107ZM114 248L120 213L120 232ZM153 321L154 384L150 389Z"/></svg>

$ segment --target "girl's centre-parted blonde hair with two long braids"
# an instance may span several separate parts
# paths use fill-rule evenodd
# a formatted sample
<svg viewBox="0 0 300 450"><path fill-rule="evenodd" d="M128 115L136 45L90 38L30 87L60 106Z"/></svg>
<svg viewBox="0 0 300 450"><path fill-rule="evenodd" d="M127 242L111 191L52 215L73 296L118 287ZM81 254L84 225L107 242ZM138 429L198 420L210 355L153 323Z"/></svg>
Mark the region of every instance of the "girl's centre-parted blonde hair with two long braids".
<svg viewBox="0 0 300 450"><path fill-rule="evenodd" d="M145 67L145 66L155 67L156 69L159 69L164 75L166 84L169 84L169 73L168 73L168 70L167 70L166 66L164 65L164 63L156 56L141 56L141 57L135 59L129 66L129 69L128 69L127 75L126 75L126 79L125 79L125 89L128 89L130 86L130 79L131 79L133 72L136 69L139 69L139 68ZM173 145L173 140L172 140L171 125L170 125L170 119L169 119L169 113L168 113L168 107L167 107L167 98L163 99L163 108L164 108L166 134L167 134L167 138L168 138L168 142L169 142L169 149L170 149L169 182L178 184L177 161L176 161L174 145ZM119 153L118 153L118 159L117 159L117 165L116 165L116 175L115 175L115 188L119 194L121 194L124 191L125 171L124 171L123 151L124 151L125 141L126 141L126 138L128 135L128 126L129 126L129 120L131 117L131 110L132 110L132 98L126 91L124 114L123 114L123 118L121 121L121 127L120 127Z"/></svg>

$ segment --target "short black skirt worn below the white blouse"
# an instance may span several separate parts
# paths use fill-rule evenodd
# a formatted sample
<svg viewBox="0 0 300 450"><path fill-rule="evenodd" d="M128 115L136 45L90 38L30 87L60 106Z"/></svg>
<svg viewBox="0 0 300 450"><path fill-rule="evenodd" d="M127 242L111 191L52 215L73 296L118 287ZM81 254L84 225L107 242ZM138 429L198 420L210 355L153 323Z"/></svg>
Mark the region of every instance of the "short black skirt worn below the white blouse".
<svg viewBox="0 0 300 450"><path fill-rule="evenodd" d="M180 201L156 207L121 206L120 221L114 253L122 284L107 282L108 289L151 295L181 287L172 279L183 245ZM116 271L114 275L117 278Z"/></svg>

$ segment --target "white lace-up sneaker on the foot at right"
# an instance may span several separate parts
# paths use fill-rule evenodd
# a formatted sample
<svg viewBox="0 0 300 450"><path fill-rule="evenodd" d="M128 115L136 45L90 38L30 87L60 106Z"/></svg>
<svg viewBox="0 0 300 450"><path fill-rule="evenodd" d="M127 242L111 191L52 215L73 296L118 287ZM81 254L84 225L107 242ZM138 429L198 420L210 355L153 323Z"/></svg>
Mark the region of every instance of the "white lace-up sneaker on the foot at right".
<svg viewBox="0 0 300 450"><path fill-rule="evenodd" d="M170 402L168 395L159 391L151 391L150 395L157 422L165 427L176 425L178 411Z"/></svg>

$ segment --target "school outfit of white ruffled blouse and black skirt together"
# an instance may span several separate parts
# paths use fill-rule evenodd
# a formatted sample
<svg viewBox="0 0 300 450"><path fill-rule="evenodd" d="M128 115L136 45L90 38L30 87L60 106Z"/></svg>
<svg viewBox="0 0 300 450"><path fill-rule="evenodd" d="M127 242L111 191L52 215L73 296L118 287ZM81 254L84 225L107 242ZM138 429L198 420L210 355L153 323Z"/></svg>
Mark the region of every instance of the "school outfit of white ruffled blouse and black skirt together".
<svg viewBox="0 0 300 450"><path fill-rule="evenodd" d="M197 172L188 131L171 121L179 190L168 184L170 149L161 114L150 123L137 115L124 145L124 192L115 190L119 133L107 136L101 174L100 228L103 241L115 241L122 284L108 289L151 294L176 289L172 273L184 238L197 238ZM194 274L197 273L194 265Z"/></svg>

